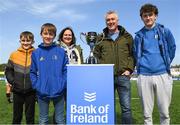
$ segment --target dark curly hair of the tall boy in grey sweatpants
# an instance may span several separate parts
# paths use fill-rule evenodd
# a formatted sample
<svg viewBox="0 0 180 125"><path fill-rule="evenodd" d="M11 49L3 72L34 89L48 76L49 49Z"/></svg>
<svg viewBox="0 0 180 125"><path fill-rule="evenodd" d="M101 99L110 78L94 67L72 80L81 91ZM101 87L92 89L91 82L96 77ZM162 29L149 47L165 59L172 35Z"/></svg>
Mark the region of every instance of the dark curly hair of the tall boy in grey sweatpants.
<svg viewBox="0 0 180 125"><path fill-rule="evenodd" d="M140 16L142 17L143 13L154 13L155 15L158 15L158 8L150 3L144 4L140 9Z"/></svg>

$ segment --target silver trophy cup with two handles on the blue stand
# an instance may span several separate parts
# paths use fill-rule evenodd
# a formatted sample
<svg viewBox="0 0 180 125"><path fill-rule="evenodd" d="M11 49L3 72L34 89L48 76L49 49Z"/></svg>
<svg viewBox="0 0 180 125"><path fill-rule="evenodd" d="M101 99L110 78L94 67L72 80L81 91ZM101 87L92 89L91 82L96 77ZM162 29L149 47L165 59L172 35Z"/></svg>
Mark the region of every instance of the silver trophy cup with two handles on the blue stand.
<svg viewBox="0 0 180 125"><path fill-rule="evenodd" d="M84 36L86 42L82 39L82 36ZM94 48L97 44L103 41L104 34L97 34L96 32L87 32L87 33L81 33L80 39L89 45L90 47L90 54L89 57L86 59L87 64L97 64L97 58L93 55Z"/></svg>

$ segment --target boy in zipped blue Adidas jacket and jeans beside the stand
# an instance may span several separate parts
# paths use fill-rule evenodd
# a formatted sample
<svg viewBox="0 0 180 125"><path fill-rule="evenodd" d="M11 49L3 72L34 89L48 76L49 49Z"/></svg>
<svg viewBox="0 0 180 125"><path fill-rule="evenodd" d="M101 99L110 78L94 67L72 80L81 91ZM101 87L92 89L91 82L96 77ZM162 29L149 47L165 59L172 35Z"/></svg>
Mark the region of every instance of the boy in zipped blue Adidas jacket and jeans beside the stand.
<svg viewBox="0 0 180 125"><path fill-rule="evenodd" d="M64 124L64 90L66 86L68 59L65 51L53 40L56 27L46 23L41 27L43 43L32 54L30 77L39 104L39 123L48 124L49 103L55 108L55 121Z"/></svg>

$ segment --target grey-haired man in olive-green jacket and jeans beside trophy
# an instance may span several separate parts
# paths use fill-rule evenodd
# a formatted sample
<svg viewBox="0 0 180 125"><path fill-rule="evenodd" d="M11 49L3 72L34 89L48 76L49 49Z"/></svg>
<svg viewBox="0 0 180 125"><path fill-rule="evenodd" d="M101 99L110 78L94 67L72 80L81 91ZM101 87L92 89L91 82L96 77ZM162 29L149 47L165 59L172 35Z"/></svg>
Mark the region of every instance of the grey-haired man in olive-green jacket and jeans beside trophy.
<svg viewBox="0 0 180 125"><path fill-rule="evenodd" d="M130 75L134 70L133 38L118 25L115 11L107 12L105 21L105 38L95 47L94 55L101 64L114 64L115 88L122 110L122 124L132 124Z"/></svg>

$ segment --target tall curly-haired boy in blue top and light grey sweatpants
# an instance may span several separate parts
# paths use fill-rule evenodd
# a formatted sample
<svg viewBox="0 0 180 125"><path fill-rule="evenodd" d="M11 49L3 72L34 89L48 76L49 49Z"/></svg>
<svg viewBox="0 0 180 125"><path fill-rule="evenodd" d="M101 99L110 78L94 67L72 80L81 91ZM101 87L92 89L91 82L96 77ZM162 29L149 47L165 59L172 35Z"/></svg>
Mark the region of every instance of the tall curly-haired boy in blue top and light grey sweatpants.
<svg viewBox="0 0 180 125"><path fill-rule="evenodd" d="M144 124L153 124L154 96L157 96L160 124L170 124L172 94L170 64L175 56L175 40L169 29L156 23L158 8L145 4L140 9L145 26L136 33L134 56L138 74L138 92L143 105Z"/></svg>

